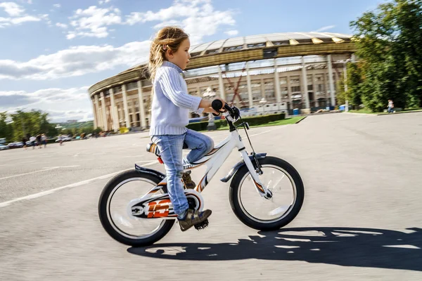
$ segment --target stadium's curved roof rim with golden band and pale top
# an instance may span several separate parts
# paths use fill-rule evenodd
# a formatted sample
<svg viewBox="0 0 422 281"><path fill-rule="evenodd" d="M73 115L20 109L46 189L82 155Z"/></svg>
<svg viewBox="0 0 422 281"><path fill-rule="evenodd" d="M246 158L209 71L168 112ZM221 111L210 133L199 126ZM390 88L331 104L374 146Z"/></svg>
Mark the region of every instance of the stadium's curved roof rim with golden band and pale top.
<svg viewBox="0 0 422 281"><path fill-rule="evenodd" d="M354 53L356 47L349 34L331 32L286 32L251 35L217 40L191 46L191 60L186 70L227 63L300 55ZM147 63L131 67L89 88L93 94L113 85L148 78Z"/></svg>

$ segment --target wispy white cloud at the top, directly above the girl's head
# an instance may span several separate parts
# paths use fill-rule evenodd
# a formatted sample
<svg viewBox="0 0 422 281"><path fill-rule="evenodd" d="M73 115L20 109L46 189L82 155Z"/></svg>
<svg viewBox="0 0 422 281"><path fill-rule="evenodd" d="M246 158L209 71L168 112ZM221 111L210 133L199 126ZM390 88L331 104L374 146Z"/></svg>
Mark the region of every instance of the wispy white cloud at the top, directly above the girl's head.
<svg viewBox="0 0 422 281"><path fill-rule="evenodd" d="M234 25L234 11L215 11L210 0L175 0L169 8L158 12L134 12L126 16L127 25L160 21L155 28L179 25L190 35L191 43L198 44L203 37L213 35L221 25Z"/></svg>

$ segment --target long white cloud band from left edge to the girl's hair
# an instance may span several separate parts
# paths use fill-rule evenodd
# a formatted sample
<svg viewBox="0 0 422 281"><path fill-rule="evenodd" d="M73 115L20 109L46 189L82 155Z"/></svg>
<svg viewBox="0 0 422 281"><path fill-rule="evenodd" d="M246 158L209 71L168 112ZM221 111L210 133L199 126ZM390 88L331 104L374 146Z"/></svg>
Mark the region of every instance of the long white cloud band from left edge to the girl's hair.
<svg viewBox="0 0 422 281"><path fill-rule="evenodd" d="M110 45L74 46L27 62L0 60L0 79L58 79L117 66L132 67L146 61L150 44L151 41L134 41L117 48Z"/></svg>

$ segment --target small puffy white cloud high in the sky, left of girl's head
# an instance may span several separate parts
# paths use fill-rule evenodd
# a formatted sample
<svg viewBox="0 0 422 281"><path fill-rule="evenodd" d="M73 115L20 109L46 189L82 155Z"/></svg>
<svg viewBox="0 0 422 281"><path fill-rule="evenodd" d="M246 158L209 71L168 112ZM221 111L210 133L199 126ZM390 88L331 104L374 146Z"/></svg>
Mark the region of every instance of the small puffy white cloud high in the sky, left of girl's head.
<svg viewBox="0 0 422 281"><path fill-rule="evenodd" d="M75 37L108 37L108 26L122 23L118 8L97 8L90 6L86 10L78 9L71 17L70 25L75 30L68 32L68 39Z"/></svg>

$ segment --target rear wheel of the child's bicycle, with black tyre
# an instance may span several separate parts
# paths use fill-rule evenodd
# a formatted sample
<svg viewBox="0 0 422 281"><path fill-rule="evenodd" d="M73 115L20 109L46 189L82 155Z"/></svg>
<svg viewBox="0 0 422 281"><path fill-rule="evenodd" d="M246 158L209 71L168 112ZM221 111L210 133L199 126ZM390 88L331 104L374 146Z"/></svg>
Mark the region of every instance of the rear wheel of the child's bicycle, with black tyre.
<svg viewBox="0 0 422 281"><path fill-rule="evenodd" d="M142 197L161 179L139 171L124 171L112 178L101 192L98 215L106 232L120 243L134 247L151 245L164 237L174 220L133 218L127 214L131 200ZM167 192L167 187L160 190Z"/></svg>

